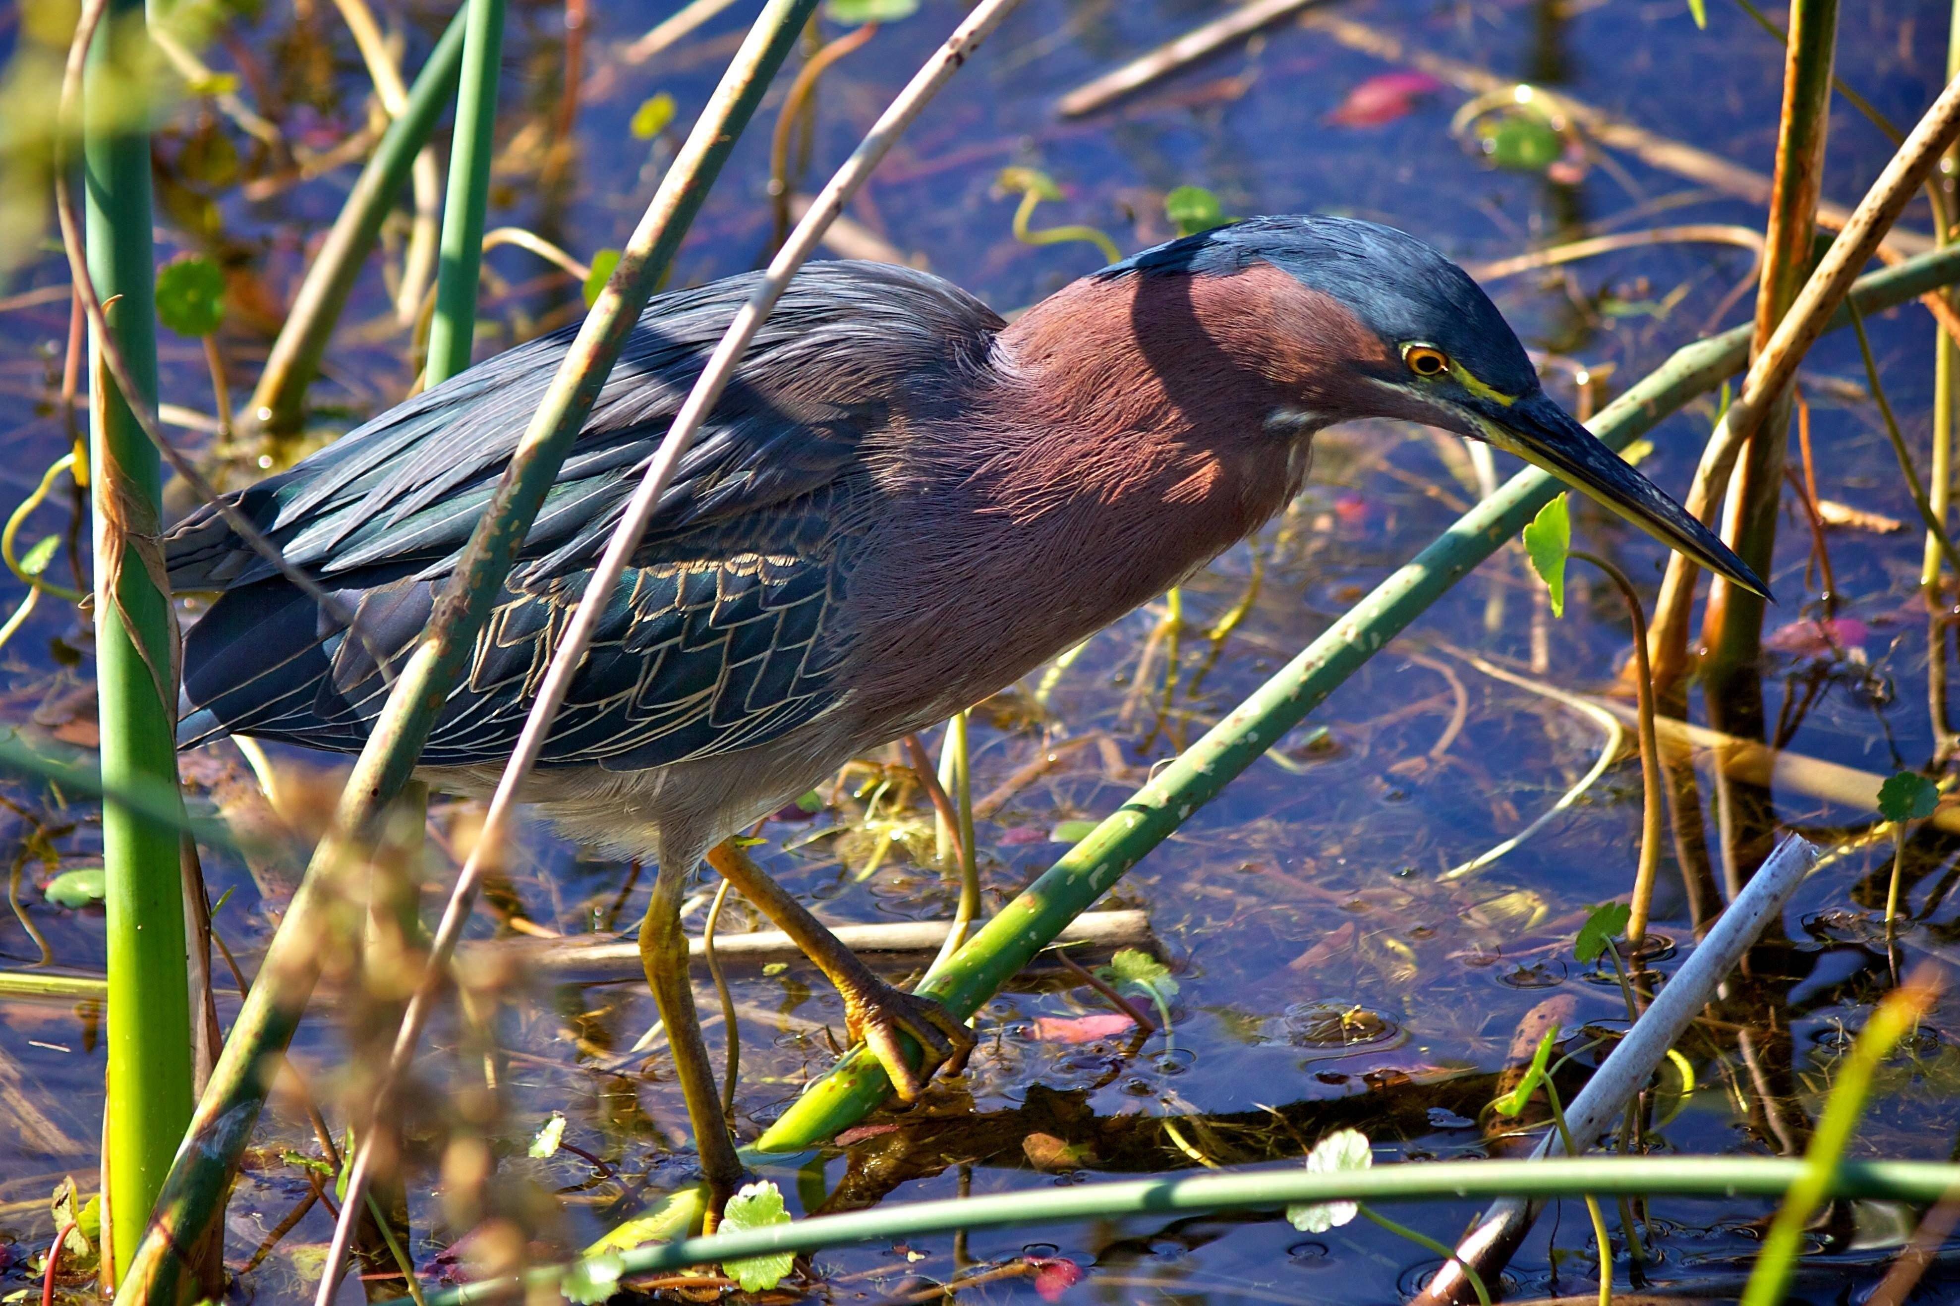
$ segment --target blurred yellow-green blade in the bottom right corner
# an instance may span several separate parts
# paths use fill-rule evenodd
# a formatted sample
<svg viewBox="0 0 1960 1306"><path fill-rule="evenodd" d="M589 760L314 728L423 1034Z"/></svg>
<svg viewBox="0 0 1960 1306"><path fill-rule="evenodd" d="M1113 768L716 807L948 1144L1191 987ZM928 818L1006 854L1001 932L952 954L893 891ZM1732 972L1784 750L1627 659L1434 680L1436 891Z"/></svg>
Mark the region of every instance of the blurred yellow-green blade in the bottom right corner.
<svg viewBox="0 0 1960 1306"><path fill-rule="evenodd" d="M1831 1084L1825 1114L1803 1153L1803 1169L1784 1194L1784 1206L1776 1212L1776 1220L1762 1239L1756 1271L1742 1290L1742 1306L1776 1306L1784 1300L1784 1286L1789 1282L1789 1271L1795 1269L1797 1251L1803 1245L1803 1226L1833 1194L1840 1157L1858 1128L1858 1116L1864 1114L1864 1100L1872 1092L1872 1075L1891 1045L1905 1037L1933 1006L1933 998L1935 984L1929 979L1909 979L1903 988L1889 992L1872 1018L1864 1022L1858 1041L1852 1043Z"/></svg>

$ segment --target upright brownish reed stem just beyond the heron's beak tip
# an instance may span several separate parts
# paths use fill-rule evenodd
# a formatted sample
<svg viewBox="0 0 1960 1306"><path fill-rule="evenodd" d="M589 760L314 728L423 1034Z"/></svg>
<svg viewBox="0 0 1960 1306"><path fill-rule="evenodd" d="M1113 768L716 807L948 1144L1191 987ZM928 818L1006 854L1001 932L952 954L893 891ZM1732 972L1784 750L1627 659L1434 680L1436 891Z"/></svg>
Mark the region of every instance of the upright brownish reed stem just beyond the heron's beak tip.
<svg viewBox="0 0 1960 1306"><path fill-rule="evenodd" d="M1776 135L1776 176L1764 229L1752 353L1768 345L1811 271L1825 135L1831 126L1837 12L1838 0L1793 0L1789 6L1784 110ZM1754 429L1737 433L1748 443L1729 486L1723 535L1758 577L1768 577L1784 502L1784 451L1789 447L1788 390L1764 406ZM1701 641L1709 649L1703 673L1717 700L1731 694L1733 682L1754 675L1762 651L1762 596L1721 578L1711 580Z"/></svg>

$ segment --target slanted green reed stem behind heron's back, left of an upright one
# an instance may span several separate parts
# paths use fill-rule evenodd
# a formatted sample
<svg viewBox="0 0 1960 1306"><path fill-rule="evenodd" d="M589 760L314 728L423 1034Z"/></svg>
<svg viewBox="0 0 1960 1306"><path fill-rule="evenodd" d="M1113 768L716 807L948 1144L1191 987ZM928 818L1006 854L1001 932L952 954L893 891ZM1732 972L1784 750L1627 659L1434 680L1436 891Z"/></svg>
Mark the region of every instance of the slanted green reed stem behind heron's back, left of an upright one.
<svg viewBox="0 0 1960 1306"><path fill-rule="evenodd" d="M416 167L435 122L449 104L457 88L457 73L463 67L466 14L457 14L443 39L429 51L429 61L421 65L416 84L408 88L408 106L402 116L388 124L374 155L347 202L341 216L333 220L327 239L306 269L300 292L292 296L286 310L286 326L280 327L272 351L259 373L259 384L239 414L239 431L251 435L267 431L290 435L304 426L306 386L319 375L319 361L327 353L333 326L347 308L347 296L361 276L361 265L380 237L380 224L394 208L408 175Z"/></svg>

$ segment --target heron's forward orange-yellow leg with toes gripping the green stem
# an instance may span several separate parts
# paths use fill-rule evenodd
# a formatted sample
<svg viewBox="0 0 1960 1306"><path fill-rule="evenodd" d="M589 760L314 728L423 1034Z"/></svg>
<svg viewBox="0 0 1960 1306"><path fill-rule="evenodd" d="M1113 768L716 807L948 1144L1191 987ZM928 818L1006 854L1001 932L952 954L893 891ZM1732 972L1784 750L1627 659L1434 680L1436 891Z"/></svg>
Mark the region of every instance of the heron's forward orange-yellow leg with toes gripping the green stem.
<svg viewBox="0 0 1960 1306"><path fill-rule="evenodd" d="M857 953L839 943L837 935L823 928L823 922L768 879L733 839L717 843L708 853L708 865L776 922L776 928L790 935L837 986L845 1000L845 1028L851 1041L862 1039L870 1047L900 1100L917 1098L925 1090L927 1077L941 1063L955 1075L966 1065L966 1057L974 1049L974 1035L955 1020L953 1012L931 998L904 992L872 975ZM913 1069L906 1057L902 1033L909 1033L925 1051L919 1069Z"/></svg>

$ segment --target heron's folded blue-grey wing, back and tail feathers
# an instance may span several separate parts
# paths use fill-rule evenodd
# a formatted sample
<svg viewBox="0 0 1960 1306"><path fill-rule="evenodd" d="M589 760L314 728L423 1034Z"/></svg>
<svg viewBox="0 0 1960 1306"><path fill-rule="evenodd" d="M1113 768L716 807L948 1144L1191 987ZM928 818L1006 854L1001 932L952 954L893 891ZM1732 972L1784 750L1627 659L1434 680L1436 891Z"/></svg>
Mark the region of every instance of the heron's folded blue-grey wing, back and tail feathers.
<svg viewBox="0 0 1960 1306"><path fill-rule="evenodd" d="M429 765L510 753L612 527L755 276L649 304L429 739ZM839 702L853 541L878 504L868 435L945 412L1000 320L945 280L806 269L657 510L545 763L657 767L764 743ZM204 506L167 537L176 590L220 590L184 657L182 743L251 733L359 749L433 614L572 331L498 355L233 502L355 612L349 639Z"/></svg>

